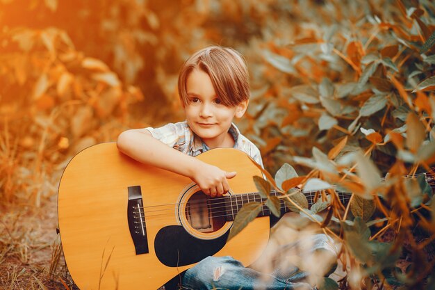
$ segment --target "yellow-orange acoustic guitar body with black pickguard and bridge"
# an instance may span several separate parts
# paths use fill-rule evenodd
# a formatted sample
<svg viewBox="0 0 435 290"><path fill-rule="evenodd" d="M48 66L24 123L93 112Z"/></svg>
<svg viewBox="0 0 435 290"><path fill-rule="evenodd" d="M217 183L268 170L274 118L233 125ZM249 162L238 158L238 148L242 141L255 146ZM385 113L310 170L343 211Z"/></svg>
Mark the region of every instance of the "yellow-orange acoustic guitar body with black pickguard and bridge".
<svg viewBox="0 0 435 290"><path fill-rule="evenodd" d="M256 192L252 177L261 171L245 153L218 148L197 158L237 172L228 179L231 195ZM60 237L74 282L81 290L158 289L209 255L252 264L268 243L269 217L256 218L227 243L233 223L227 208L204 218L195 209L204 196L187 177L134 161L115 143L83 150L58 191Z"/></svg>

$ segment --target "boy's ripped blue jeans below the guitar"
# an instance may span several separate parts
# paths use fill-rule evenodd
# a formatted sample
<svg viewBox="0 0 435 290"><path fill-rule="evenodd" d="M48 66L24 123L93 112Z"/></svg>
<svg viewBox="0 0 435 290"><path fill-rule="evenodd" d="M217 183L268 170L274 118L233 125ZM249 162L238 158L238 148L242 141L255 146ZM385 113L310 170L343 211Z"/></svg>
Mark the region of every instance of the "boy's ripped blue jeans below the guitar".
<svg viewBox="0 0 435 290"><path fill-rule="evenodd" d="M245 268L232 257L207 257L195 267L186 271L183 277L183 289L229 289L229 290L283 290L283 289L315 289L307 278L311 273L302 271L298 266L286 263L287 257L296 255L327 254L330 261L336 261L336 252L325 234L316 234L309 238L311 244L304 251L304 241L281 246L277 255L272 257L274 265L272 273L262 273L253 268ZM306 248L306 247L305 247ZM315 261L315 260L311 260ZM332 267L331 267L332 266ZM336 264L329 263L329 269L322 275L329 275Z"/></svg>

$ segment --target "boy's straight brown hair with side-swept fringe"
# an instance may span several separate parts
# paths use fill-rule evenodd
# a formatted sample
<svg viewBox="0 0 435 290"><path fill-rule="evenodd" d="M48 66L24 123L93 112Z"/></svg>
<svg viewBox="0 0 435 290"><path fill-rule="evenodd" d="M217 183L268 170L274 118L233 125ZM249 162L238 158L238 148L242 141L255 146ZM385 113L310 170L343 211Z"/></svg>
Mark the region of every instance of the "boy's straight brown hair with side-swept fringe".
<svg viewBox="0 0 435 290"><path fill-rule="evenodd" d="M213 88L225 106L236 106L249 99L249 75L243 56L228 47L212 46L195 52L181 67L178 90L183 106L188 104L187 79L195 69L210 76Z"/></svg>

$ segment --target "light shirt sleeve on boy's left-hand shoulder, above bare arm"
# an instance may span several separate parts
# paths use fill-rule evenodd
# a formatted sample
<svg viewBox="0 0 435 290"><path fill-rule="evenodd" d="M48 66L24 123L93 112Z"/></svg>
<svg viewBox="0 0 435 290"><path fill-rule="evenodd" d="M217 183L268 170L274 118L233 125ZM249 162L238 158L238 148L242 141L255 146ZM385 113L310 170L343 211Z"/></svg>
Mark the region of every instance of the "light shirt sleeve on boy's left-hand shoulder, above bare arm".
<svg viewBox="0 0 435 290"><path fill-rule="evenodd" d="M184 130L177 124L169 123L163 127L147 127L145 129L151 133L151 136L174 149L182 151L181 149L186 143Z"/></svg>

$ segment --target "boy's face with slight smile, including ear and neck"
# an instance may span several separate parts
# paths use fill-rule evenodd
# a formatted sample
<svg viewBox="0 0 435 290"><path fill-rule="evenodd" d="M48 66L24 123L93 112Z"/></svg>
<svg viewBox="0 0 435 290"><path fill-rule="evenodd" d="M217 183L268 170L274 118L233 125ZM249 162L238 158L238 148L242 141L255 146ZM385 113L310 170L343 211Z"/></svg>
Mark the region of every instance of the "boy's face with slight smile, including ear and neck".
<svg viewBox="0 0 435 290"><path fill-rule="evenodd" d="M184 111L190 129L210 148L231 146L229 127L234 117L243 116L247 101L232 107L220 104L210 76L198 69L190 72L186 90L188 104L184 106Z"/></svg>

